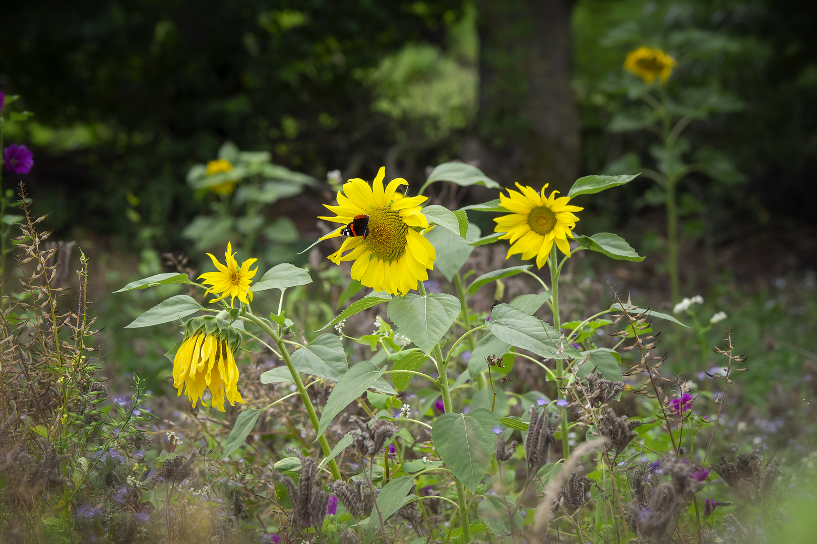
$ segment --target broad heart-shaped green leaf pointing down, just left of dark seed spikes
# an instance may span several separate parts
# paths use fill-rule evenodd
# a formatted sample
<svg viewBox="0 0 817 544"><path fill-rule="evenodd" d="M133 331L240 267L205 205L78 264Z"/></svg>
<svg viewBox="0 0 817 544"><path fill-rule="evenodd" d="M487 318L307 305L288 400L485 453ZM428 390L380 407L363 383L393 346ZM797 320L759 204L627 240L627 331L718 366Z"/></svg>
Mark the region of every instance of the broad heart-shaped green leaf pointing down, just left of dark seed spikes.
<svg viewBox="0 0 817 544"><path fill-rule="evenodd" d="M493 427L498 418L486 408L468 413L444 413L434 421L431 438L445 465L475 492L497 448Z"/></svg>

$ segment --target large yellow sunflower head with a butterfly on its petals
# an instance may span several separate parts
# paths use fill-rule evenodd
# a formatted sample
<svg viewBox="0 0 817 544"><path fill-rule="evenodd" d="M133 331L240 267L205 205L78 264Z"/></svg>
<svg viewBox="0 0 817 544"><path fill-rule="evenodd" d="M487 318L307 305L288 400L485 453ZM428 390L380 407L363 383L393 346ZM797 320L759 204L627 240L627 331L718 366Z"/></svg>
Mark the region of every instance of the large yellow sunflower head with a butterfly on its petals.
<svg viewBox="0 0 817 544"><path fill-rule="evenodd" d="M408 185L402 178L390 181L384 189L385 176L386 168L381 167L371 187L360 179L347 181L337 192L338 205L324 204L335 216L319 219L347 225L357 216L368 216L367 234L347 237L328 258L336 265L355 261L351 277L366 287L405 295L417 288L417 280L428 279L427 270L434 270L437 255L434 246L417 232L428 228L419 206L427 198L405 198L397 193L400 185ZM341 236L342 230L339 227L321 239Z"/></svg>

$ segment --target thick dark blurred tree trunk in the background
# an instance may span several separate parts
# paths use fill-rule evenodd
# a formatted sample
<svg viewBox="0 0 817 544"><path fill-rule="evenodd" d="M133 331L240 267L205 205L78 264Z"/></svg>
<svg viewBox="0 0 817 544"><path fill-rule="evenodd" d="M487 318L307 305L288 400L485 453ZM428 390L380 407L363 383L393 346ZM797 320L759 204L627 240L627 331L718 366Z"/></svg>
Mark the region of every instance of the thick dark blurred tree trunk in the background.
<svg viewBox="0 0 817 544"><path fill-rule="evenodd" d="M463 158L489 175L566 190L578 166L574 0L481 0L480 113Z"/></svg>

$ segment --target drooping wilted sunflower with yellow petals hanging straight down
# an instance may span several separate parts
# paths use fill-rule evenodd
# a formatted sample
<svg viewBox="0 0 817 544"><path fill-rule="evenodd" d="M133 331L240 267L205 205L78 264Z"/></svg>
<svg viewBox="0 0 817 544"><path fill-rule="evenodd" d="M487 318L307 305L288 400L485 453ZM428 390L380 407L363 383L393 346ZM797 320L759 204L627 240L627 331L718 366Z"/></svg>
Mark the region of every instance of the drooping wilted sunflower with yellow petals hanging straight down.
<svg viewBox="0 0 817 544"><path fill-rule="evenodd" d="M202 395L209 388L212 405L221 412L225 396L233 406L243 403L237 387L239 368L233 355L240 341L234 328L219 327L214 317L190 319L185 324L185 340L173 359L173 386L179 390L178 396L186 389L193 408L199 399L207 406Z"/></svg>

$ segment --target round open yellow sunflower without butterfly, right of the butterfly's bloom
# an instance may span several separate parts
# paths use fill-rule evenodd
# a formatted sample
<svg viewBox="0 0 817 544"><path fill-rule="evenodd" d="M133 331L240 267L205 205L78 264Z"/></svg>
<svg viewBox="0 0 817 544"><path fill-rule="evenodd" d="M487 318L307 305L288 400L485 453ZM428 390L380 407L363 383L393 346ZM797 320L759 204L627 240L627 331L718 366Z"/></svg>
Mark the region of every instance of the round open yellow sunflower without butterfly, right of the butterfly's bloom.
<svg viewBox="0 0 817 544"><path fill-rule="evenodd" d="M499 239L511 240L509 258L515 253L521 253L522 259L527 261L536 257L536 265L542 268L551 253L551 247L556 242L561 252L570 256L568 238L573 238L574 226L578 217L573 212L583 210L583 207L569 206L569 197L556 198L559 191L553 191L545 197L547 184L539 194L533 187L523 187L516 184L521 193L508 190L508 196L499 194L499 202L511 214L500 216L493 221L497 222L495 232L503 232Z"/></svg>

